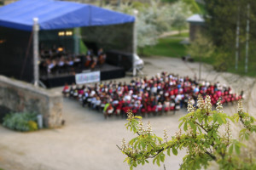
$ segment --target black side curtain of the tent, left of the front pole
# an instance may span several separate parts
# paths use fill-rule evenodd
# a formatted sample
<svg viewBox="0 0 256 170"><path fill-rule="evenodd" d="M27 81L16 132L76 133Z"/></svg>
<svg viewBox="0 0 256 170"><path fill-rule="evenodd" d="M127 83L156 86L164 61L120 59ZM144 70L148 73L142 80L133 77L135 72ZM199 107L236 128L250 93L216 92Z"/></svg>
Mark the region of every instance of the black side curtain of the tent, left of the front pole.
<svg viewBox="0 0 256 170"><path fill-rule="evenodd" d="M32 82L32 32L0 27L0 74Z"/></svg>

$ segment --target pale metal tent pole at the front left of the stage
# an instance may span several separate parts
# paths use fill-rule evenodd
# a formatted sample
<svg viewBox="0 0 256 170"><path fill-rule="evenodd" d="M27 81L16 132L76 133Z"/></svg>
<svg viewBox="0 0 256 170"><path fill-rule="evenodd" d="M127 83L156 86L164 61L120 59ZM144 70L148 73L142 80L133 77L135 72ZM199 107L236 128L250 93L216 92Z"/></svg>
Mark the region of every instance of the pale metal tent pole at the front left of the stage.
<svg viewBox="0 0 256 170"><path fill-rule="evenodd" d="M38 54L39 54L39 45L38 45L38 18L33 18L33 60L34 60L34 85L38 86L39 82L39 72L38 72Z"/></svg>

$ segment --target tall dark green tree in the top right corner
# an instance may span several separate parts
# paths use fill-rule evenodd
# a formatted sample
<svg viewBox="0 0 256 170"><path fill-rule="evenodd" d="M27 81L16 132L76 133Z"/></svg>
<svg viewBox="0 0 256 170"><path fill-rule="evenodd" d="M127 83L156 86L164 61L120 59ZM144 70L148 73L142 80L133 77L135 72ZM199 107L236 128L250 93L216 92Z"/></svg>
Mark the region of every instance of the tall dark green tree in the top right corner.
<svg viewBox="0 0 256 170"><path fill-rule="evenodd" d="M248 39L250 42L247 44L250 44L250 47L256 43L255 31L248 31L247 34L247 21L250 22L249 26L251 28L256 25L256 11L250 10L248 14L248 5L250 8L256 8L256 1L205 1L206 14L204 19L206 20L207 36L212 39L213 44L218 48L229 50L231 53L230 61L233 64L232 68L236 68L236 71L239 70L239 63L248 58L251 63L255 62L253 57L256 53L255 49L247 48L249 51L245 52ZM247 38L247 35L249 38ZM247 58L247 54L251 57Z"/></svg>

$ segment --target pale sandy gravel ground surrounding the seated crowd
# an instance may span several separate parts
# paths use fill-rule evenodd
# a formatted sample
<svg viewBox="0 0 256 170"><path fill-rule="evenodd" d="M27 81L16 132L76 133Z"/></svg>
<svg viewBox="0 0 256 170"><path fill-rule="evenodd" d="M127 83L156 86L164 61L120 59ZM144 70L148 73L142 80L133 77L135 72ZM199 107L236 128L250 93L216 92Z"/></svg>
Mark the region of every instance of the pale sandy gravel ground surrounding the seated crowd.
<svg viewBox="0 0 256 170"><path fill-rule="evenodd" d="M153 76L161 71L172 72L180 76L195 77L198 63L185 63L182 59L165 57L143 58L144 76ZM245 108L254 116L256 107L255 79L239 77L230 73L212 71L209 65L203 65L202 78L209 82L220 82L230 85L236 93L243 89L245 93ZM127 76L117 81L130 81ZM61 92L61 88L50 89ZM247 102L250 99L250 103ZM250 106L249 106L250 105ZM234 113L235 105L225 107L226 112ZM163 136L166 128L169 135L177 132L178 119L186 114L185 109L162 116L149 116L143 119L150 121L154 133ZM125 119L109 117L104 119L102 113L83 108L79 102L64 99L63 117L66 125L57 129L44 129L34 133L13 132L0 126L0 167L4 170L125 170L125 156L118 150L116 144L121 139L126 141L133 134L126 131ZM185 151L178 156L167 156L166 169L178 169ZM156 165L145 165L136 169L164 169Z"/></svg>

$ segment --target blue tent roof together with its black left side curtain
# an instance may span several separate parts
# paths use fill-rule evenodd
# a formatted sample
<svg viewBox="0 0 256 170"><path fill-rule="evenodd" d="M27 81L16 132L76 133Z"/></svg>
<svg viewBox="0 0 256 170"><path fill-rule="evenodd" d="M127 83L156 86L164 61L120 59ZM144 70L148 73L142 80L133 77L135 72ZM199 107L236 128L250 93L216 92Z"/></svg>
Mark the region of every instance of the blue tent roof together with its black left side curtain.
<svg viewBox="0 0 256 170"><path fill-rule="evenodd" d="M135 22L134 16L90 4L54 0L20 0L10 3L0 8L0 74L28 82L33 80L32 67L35 59L32 59L32 55L35 53L29 47L32 46L34 18L38 18L40 31ZM34 30L33 37L36 37L35 33ZM33 41L38 46L36 40ZM25 70L22 68L24 64ZM20 72L25 72L24 76L20 76Z"/></svg>

